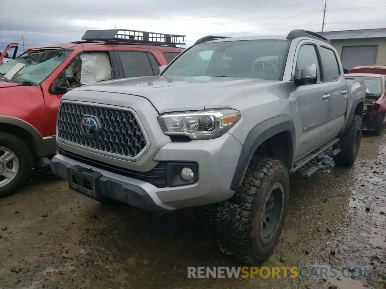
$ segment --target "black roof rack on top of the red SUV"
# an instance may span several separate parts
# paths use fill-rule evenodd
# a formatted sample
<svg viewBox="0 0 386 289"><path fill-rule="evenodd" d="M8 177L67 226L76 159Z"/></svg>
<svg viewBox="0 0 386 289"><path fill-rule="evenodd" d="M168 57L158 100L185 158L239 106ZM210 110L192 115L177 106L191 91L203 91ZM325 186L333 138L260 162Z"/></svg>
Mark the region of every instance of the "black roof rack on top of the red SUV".
<svg viewBox="0 0 386 289"><path fill-rule="evenodd" d="M163 34L129 29L87 30L81 39L86 41L124 42L132 44L168 46L185 45L185 35Z"/></svg>

